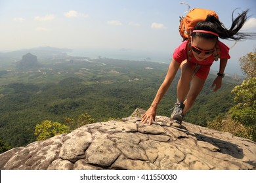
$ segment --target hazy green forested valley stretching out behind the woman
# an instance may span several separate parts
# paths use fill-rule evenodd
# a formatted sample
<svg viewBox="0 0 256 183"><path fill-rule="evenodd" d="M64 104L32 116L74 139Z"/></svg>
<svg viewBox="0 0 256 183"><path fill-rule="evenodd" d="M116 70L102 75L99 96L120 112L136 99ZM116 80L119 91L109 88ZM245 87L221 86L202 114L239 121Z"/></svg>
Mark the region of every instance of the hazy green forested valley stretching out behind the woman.
<svg viewBox="0 0 256 183"><path fill-rule="evenodd" d="M89 114L94 122L130 116L147 109L163 81L169 63L109 58L41 58L40 67L0 67L0 140L11 147L36 140L35 126L44 120L64 123ZM206 126L234 107L231 90L242 80L225 76L223 87L212 92L210 74L196 104L184 121ZM163 97L158 115L170 116L177 99L176 76Z"/></svg>

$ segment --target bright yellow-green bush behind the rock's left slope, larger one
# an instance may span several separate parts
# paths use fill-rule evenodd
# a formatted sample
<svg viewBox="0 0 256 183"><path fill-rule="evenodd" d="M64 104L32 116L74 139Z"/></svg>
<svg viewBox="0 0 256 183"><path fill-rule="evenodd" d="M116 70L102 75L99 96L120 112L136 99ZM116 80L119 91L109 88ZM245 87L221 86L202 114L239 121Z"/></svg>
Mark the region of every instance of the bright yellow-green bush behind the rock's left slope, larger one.
<svg viewBox="0 0 256 183"><path fill-rule="evenodd" d="M70 127L62 125L59 122L51 122L50 120L45 120L41 124L35 126L35 136L37 136L37 141L42 141L54 137L55 135L60 135L62 133L68 133Z"/></svg>

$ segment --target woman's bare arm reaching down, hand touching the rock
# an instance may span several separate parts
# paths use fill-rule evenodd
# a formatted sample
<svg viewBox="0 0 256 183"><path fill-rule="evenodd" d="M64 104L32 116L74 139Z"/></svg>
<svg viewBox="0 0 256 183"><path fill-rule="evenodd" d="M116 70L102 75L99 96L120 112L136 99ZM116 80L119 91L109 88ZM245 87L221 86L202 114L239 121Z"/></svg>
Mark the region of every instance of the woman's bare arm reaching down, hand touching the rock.
<svg viewBox="0 0 256 183"><path fill-rule="evenodd" d="M156 93L156 97L154 98L154 101L150 105L150 108L148 108L146 113L141 118L142 124L145 124L149 120L148 125L151 125L152 120L155 121L156 110L158 108L158 105L159 105L161 99L163 98L163 95L167 92L167 90L171 86L171 83L173 82L173 79L175 78L175 75L176 75L180 65L181 65L181 63L178 63L177 61L172 59L170 65L169 65L167 75L165 76L163 83L161 84L160 88L158 89L158 92Z"/></svg>

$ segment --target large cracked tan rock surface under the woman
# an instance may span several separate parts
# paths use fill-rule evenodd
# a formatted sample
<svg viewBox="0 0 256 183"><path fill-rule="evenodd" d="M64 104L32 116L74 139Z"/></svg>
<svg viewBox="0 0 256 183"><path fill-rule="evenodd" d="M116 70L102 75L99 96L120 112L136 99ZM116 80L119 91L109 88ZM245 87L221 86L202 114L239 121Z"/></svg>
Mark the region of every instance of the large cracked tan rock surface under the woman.
<svg viewBox="0 0 256 183"><path fill-rule="evenodd" d="M13 148L0 154L0 169L256 169L255 142L186 122L172 127L165 116L143 125L142 112Z"/></svg>

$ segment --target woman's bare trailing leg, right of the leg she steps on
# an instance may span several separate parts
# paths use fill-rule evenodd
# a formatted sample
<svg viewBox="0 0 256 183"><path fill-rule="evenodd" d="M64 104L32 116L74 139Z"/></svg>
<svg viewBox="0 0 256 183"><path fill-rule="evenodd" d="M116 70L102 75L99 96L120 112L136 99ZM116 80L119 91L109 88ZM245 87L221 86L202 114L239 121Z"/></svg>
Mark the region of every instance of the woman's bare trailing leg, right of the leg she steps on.
<svg viewBox="0 0 256 183"><path fill-rule="evenodd" d="M198 76L194 76L190 84L190 90L188 92L186 100L184 101L185 107L183 110L183 114L187 112L194 105L196 101L196 97L198 97L199 93L203 89L204 83L205 83L205 80L203 80L202 78L199 78Z"/></svg>

